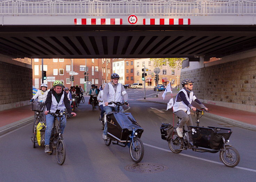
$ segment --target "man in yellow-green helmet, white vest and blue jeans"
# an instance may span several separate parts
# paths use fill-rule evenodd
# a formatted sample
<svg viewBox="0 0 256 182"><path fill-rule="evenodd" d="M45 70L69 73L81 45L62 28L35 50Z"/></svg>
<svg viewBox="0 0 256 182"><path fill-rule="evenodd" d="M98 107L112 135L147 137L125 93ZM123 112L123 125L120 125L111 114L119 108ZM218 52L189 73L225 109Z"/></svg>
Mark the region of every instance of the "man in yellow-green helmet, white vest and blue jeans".
<svg viewBox="0 0 256 182"><path fill-rule="evenodd" d="M64 111L64 109L67 109L68 113L73 114L73 116L76 116L75 113L72 113L72 109L70 106L69 99L67 98L67 93L63 91L62 89L63 83L61 81L55 81L53 83L53 88L50 89L50 91L47 94L46 98L46 131L45 131L45 152L49 153L50 148L50 137L51 137L51 129L53 128L53 122L54 122L54 116L48 115L49 112L55 113L57 109ZM61 135L64 132L65 126L66 126L66 118L64 117L61 122ZM63 135L62 135L63 137Z"/></svg>

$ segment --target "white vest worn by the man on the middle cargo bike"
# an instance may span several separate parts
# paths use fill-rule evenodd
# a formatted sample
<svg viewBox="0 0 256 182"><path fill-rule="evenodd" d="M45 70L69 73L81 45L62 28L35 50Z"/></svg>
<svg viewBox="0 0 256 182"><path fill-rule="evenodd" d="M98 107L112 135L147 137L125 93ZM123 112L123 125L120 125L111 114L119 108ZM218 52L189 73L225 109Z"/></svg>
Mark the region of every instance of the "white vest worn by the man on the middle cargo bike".
<svg viewBox="0 0 256 182"><path fill-rule="evenodd" d="M116 92L114 90L113 85L111 83L108 83L108 84L109 84L109 93L107 94L107 101L121 102L122 101L122 95L121 95L122 84L118 83ZM103 103L103 106L105 106L105 103ZM108 106L115 107L115 104L110 104Z"/></svg>

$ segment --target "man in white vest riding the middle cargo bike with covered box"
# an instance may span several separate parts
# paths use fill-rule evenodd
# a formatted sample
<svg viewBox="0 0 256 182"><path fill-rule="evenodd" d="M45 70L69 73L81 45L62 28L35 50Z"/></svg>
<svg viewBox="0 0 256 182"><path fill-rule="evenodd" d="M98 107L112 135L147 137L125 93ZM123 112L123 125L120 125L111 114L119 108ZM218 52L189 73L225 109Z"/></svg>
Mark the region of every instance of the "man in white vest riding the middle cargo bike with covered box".
<svg viewBox="0 0 256 182"><path fill-rule="evenodd" d="M117 105L111 104L109 105L109 102L122 102L122 99L127 102L128 100L128 94L125 91L125 88L121 83L118 83L119 81L119 75L116 73L113 73L111 75L111 82L106 84L104 90L103 90L103 106L106 114L111 112L112 110L117 111ZM129 106L129 104L127 103ZM122 106L120 106L120 111L123 111ZM105 124L105 128L102 134L102 137L104 140L107 140L107 125Z"/></svg>

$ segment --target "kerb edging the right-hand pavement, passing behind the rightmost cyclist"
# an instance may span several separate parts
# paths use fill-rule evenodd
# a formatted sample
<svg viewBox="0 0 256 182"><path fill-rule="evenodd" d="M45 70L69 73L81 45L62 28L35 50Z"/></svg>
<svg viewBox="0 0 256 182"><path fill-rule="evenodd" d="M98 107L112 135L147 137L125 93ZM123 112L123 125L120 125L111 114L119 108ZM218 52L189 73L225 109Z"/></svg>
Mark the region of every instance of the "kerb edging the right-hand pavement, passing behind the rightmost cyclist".
<svg viewBox="0 0 256 182"><path fill-rule="evenodd" d="M159 102L159 101L152 101L152 100L137 100L137 101L143 101L143 102L153 102L153 103L158 103L158 104L167 104L164 102ZM248 124L248 123L243 123L241 121L237 121L234 119L218 116L215 114L210 114L210 113L205 113L205 116L211 119L216 119L217 121L227 123L236 127L240 127L246 130L251 130L251 131L256 131L256 125Z"/></svg>

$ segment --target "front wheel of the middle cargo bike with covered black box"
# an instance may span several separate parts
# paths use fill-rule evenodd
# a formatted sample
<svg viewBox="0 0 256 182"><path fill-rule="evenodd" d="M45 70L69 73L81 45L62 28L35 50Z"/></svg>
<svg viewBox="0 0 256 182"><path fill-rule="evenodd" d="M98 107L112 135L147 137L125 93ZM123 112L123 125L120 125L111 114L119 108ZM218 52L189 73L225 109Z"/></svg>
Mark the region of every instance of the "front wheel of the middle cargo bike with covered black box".
<svg viewBox="0 0 256 182"><path fill-rule="evenodd" d="M133 162L141 162L144 156L144 145L140 138L134 138L133 143L130 143L130 156Z"/></svg>

